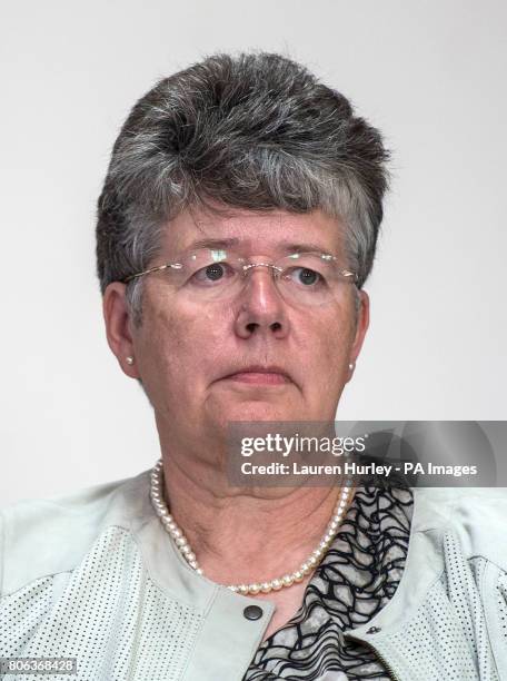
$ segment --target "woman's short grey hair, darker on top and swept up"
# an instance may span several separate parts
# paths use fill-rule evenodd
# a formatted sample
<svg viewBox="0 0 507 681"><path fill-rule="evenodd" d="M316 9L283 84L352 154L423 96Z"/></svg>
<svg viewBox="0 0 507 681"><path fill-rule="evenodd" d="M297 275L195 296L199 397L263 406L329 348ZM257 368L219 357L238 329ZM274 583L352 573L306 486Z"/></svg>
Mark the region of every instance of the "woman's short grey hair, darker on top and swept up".
<svg viewBox="0 0 507 681"><path fill-rule="evenodd" d="M320 208L346 225L358 287L374 263L388 187L380 132L305 67L275 53L213 55L160 80L132 108L98 200L97 270L146 269L168 221L209 201L251 210ZM141 324L142 277L127 286Z"/></svg>

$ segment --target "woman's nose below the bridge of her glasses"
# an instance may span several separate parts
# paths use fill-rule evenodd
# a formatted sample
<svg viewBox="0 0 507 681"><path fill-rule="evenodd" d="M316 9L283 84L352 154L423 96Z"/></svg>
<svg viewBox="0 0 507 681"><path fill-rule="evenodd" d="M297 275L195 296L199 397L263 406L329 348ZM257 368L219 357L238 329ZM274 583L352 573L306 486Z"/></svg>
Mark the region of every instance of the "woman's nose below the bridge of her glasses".
<svg viewBox="0 0 507 681"><path fill-rule="evenodd" d="M289 330L286 305L274 279L272 266L258 263L246 272L245 287L236 317L236 333L241 338L272 335L284 338Z"/></svg>

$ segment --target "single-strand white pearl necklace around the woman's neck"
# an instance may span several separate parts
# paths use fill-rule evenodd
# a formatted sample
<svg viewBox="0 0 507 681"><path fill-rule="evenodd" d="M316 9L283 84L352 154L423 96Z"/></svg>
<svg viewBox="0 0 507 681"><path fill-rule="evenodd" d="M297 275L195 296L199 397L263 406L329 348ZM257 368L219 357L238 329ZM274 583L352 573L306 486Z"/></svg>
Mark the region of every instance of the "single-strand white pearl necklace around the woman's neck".
<svg viewBox="0 0 507 681"><path fill-rule="evenodd" d="M190 568L192 568L198 574L203 574L202 568L199 566L199 563L196 559L196 554L191 550L187 537L176 524L175 519L169 513L169 510L163 501L162 477L162 460L159 458L159 461L155 464L151 471L150 497L151 503L153 504L155 512L159 516L165 530L175 540L177 547L179 549ZM352 480L348 477L344 483L344 487L341 488L338 503L335 506L332 517L326 527L326 532L324 533L319 545L307 557L307 560L301 563L298 570L296 570L295 572L287 573L284 576L269 580L267 582L256 582L254 584L230 584L228 585L228 589L242 595L256 595L257 593L269 593L270 591L279 591L284 586L291 586L297 582L301 582L304 578L320 563L324 557L324 554L326 553L327 549L335 539L344 519L344 514L349 504L351 487Z"/></svg>

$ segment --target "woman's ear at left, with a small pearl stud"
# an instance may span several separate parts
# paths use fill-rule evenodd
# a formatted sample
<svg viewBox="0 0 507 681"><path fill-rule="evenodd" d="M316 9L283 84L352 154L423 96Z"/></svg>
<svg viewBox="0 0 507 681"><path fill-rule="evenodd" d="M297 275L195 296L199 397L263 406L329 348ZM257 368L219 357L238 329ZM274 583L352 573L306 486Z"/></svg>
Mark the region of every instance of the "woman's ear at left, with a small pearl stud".
<svg viewBox="0 0 507 681"><path fill-rule="evenodd" d="M103 293L102 313L106 322L106 335L109 347L118 359L123 373L131 378L140 378L136 362L133 364L127 362L127 357L136 358L136 355L130 333L131 319L127 308L126 289L126 284L112 282Z"/></svg>

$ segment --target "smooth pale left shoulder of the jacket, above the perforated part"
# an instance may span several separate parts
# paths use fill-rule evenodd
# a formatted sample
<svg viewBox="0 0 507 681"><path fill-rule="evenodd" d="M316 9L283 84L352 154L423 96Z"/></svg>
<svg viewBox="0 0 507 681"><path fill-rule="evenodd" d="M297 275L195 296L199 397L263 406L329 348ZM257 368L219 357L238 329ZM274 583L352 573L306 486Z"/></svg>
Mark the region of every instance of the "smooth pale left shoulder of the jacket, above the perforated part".
<svg viewBox="0 0 507 681"><path fill-rule="evenodd" d="M71 494L0 510L0 595L73 570L110 525L129 529L146 509L149 471Z"/></svg>

